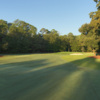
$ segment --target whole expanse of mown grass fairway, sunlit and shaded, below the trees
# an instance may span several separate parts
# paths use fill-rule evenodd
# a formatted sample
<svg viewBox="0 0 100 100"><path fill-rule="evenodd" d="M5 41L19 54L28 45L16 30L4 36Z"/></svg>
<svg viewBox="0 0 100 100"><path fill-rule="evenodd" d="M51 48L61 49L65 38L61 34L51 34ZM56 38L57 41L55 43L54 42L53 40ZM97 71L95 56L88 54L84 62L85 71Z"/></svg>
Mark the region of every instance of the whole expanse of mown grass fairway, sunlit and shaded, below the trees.
<svg viewBox="0 0 100 100"><path fill-rule="evenodd" d="M4 55L0 100L100 100L100 60L90 55Z"/></svg>

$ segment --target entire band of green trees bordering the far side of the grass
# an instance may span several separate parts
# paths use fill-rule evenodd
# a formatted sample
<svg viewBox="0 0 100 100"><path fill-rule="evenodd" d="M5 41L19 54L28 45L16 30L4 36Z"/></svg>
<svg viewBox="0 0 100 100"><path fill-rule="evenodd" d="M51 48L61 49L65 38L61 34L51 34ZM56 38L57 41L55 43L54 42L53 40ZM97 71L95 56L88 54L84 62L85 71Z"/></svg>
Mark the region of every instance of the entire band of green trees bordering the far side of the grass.
<svg viewBox="0 0 100 100"><path fill-rule="evenodd" d="M59 35L55 29L37 28L25 21L8 23L0 20L0 53L92 52L100 50L100 1L94 0L97 11L91 12L91 22L79 28L81 35Z"/></svg>

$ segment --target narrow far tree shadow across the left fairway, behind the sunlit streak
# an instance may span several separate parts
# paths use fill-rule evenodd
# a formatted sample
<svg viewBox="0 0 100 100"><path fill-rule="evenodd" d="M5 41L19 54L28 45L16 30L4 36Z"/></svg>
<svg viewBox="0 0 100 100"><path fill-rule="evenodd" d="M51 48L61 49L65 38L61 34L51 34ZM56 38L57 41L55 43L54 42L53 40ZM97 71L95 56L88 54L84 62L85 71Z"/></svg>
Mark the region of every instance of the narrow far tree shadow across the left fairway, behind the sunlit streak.
<svg viewBox="0 0 100 100"><path fill-rule="evenodd" d="M12 69L18 69L20 70L20 68L22 68L24 71L24 69L26 68L28 70L28 68L38 68L41 66L45 66L48 63L46 63L46 59L40 59L40 60L31 60L31 61L23 61L23 62L14 62L14 63L7 63L7 64L1 64L0 65L0 71L2 70L12 70ZM15 70L16 71L16 70Z"/></svg>

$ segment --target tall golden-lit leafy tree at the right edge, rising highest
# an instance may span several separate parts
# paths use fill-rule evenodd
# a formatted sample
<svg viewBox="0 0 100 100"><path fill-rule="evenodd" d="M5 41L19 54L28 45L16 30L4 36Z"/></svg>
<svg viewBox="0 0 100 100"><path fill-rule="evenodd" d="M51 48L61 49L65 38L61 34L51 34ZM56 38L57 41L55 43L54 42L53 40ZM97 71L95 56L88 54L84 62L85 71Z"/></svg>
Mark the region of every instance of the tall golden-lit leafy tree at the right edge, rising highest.
<svg viewBox="0 0 100 100"><path fill-rule="evenodd" d="M100 0L94 1L97 3L97 11L89 14L91 22L88 24L83 24L79 28L79 32L81 32L80 44L83 44L83 48L90 52L94 49L98 50L100 46L98 44L100 41Z"/></svg>

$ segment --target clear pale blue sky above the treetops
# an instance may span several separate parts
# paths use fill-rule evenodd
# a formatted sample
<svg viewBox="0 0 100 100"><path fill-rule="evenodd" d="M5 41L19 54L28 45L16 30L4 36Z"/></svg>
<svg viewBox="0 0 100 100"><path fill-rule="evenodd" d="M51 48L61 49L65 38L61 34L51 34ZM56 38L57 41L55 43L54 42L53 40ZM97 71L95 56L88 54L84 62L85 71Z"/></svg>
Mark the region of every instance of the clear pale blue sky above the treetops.
<svg viewBox="0 0 100 100"><path fill-rule="evenodd" d="M48 30L55 29L60 35L72 32L89 23L89 13L96 11L93 0L0 0L0 19L13 22L16 19Z"/></svg>

